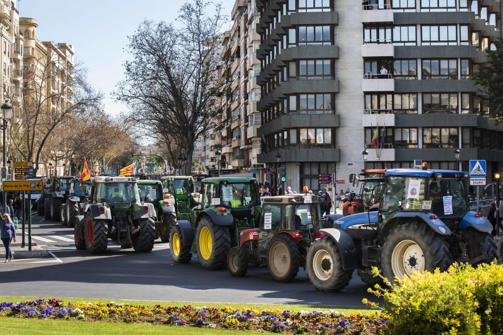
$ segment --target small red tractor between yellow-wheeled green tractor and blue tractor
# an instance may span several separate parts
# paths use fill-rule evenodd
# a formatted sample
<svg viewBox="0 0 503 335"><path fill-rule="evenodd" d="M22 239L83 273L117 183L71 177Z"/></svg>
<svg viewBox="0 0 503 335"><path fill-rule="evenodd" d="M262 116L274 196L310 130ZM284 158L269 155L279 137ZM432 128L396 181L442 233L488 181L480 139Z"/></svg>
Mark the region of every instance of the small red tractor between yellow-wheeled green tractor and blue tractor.
<svg viewBox="0 0 503 335"><path fill-rule="evenodd" d="M333 225L321 216L317 195L287 194L263 201L259 227L240 233L239 246L227 255L227 269L232 276L242 277L249 263L267 265L275 280L292 281L299 267L305 268L309 247L322 236L320 228Z"/></svg>

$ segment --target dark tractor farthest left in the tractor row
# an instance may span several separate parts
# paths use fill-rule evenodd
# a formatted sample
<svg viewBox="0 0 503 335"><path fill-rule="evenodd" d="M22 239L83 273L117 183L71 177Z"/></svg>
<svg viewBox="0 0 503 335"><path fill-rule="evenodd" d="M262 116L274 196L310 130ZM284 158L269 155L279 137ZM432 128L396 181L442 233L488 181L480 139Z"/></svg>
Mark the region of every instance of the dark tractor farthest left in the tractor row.
<svg viewBox="0 0 503 335"><path fill-rule="evenodd" d="M44 189L43 191L44 216L46 219L61 220L61 205L66 202L66 191L69 189L69 183L73 178L70 176L53 177L46 185L47 190Z"/></svg>

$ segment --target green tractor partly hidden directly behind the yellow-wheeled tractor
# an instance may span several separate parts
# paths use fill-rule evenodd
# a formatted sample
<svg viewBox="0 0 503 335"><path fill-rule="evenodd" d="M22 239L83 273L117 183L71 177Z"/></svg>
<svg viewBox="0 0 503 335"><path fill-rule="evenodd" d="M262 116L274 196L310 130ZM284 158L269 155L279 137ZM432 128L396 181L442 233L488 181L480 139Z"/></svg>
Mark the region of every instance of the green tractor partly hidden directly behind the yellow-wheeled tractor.
<svg viewBox="0 0 503 335"><path fill-rule="evenodd" d="M161 180L164 193L175 198L177 220L190 220L192 208L201 200L201 194L194 188L194 179L191 176L169 176L162 177Z"/></svg>

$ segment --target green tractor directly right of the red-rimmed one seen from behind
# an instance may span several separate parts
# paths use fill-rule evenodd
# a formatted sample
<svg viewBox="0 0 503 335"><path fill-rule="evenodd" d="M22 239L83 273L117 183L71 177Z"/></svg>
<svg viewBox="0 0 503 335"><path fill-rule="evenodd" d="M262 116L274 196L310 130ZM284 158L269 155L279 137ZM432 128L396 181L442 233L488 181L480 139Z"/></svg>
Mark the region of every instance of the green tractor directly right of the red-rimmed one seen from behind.
<svg viewBox="0 0 503 335"><path fill-rule="evenodd" d="M139 180L140 200L150 202L157 213L155 221L155 238L162 242L170 241L171 228L177 223L175 198L166 194L159 180Z"/></svg>

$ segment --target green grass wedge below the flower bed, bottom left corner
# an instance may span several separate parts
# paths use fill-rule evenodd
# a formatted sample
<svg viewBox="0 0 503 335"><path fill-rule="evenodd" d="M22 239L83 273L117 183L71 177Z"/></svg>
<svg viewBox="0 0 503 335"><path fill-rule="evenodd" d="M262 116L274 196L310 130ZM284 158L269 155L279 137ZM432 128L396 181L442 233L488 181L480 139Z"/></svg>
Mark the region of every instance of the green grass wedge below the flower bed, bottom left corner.
<svg viewBox="0 0 503 335"><path fill-rule="evenodd" d="M87 335L87 334L259 334L257 331L222 330L209 328L152 325L148 323L115 323L101 321L69 321L54 319L27 319L4 317L0 319L0 329L4 334L37 335ZM264 332L261 332L262 334Z"/></svg>

